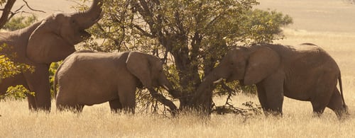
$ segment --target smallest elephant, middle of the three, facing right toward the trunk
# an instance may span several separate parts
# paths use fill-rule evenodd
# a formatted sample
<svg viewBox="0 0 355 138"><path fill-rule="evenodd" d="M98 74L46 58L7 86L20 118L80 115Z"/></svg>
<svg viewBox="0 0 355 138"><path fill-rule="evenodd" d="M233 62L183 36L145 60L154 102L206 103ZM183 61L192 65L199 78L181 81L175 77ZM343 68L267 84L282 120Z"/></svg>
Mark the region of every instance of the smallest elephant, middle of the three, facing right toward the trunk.
<svg viewBox="0 0 355 138"><path fill-rule="evenodd" d="M58 110L81 112L84 105L109 101L112 111L134 113L136 88L173 86L158 57L142 52L75 52L55 74Z"/></svg>

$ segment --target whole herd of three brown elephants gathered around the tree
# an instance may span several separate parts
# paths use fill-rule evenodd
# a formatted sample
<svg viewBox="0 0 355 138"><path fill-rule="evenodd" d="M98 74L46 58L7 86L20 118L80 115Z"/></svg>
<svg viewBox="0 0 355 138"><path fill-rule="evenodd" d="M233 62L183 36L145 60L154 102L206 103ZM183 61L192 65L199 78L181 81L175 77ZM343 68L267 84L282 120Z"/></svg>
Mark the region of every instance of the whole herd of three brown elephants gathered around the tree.
<svg viewBox="0 0 355 138"><path fill-rule="evenodd" d="M35 96L28 96L28 108L50 110L48 69L51 62L62 59L55 74L59 110L81 111L84 105L109 101L111 110L134 113L136 88L161 86L173 91L160 59L151 54L75 52L74 45L90 37L85 29L101 18L101 6L100 0L94 0L86 11L56 13L27 28L0 33L0 44L13 47L0 54L16 53L13 62L35 67L34 72L1 80L0 95L9 86L23 85L35 92ZM284 96L310 101L313 111L319 115L326 107L338 117L348 113L337 63L322 48L310 43L235 47L205 77L196 92L205 91L220 79L256 84L266 115L282 114Z"/></svg>

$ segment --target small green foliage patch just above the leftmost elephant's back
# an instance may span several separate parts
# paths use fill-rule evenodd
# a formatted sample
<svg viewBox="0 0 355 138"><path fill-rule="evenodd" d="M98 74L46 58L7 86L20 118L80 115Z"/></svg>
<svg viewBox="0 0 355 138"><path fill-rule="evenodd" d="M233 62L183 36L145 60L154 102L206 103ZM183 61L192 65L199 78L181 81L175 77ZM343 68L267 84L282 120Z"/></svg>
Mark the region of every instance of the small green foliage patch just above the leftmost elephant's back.
<svg viewBox="0 0 355 138"><path fill-rule="evenodd" d="M37 21L37 17L32 16L19 16L11 18L11 20L4 25L4 29L7 30L18 30L22 28L26 28L28 25L35 23Z"/></svg>

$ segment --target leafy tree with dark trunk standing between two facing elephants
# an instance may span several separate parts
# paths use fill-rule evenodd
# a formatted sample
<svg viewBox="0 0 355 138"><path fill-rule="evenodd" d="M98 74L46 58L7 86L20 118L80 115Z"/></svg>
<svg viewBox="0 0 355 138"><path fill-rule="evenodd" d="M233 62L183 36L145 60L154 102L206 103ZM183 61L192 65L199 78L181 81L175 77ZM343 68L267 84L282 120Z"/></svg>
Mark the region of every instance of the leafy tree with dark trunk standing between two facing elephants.
<svg viewBox="0 0 355 138"><path fill-rule="evenodd" d="M170 79L180 90L170 95L180 100L180 108L210 113L212 90L204 95L195 90L224 53L234 45L282 38L280 27L292 23L282 13L253 10L256 4L256 0L105 0L104 16L91 30L101 41L91 40L84 47L155 54L168 64Z"/></svg>

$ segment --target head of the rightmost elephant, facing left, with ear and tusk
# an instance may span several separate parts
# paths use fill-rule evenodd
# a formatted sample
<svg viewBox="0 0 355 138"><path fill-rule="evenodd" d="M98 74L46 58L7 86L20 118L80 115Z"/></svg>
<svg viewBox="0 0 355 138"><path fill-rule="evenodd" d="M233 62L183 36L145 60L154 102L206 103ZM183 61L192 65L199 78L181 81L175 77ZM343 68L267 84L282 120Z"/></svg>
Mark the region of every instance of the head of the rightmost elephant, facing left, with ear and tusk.
<svg viewBox="0 0 355 138"><path fill-rule="evenodd" d="M279 55L268 47L236 47L226 53L220 64L206 77L210 83L219 79L239 80L244 85L262 81L280 64Z"/></svg>

